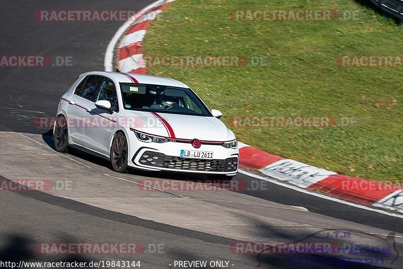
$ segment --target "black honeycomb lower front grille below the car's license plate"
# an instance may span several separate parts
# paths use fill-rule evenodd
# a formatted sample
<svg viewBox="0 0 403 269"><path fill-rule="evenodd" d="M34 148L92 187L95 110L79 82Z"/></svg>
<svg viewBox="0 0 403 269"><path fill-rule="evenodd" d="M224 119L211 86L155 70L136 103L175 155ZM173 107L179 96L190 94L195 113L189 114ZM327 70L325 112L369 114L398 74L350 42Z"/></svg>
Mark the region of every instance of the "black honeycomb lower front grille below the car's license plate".
<svg viewBox="0 0 403 269"><path fill-rule="evenodd" d="M206 160L168 156L154 151L145 151L139 162L152 167L206 172L233 172L238 168L237 157Z"/></svg>

